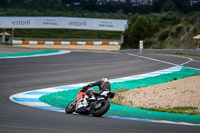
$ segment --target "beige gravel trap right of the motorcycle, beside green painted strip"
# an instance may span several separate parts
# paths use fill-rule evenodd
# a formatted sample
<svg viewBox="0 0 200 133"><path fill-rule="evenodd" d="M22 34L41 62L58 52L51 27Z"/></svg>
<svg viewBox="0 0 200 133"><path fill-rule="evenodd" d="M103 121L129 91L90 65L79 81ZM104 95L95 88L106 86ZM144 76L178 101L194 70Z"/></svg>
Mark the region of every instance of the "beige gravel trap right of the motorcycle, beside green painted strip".
<svg viewBox="0 0 200 133"><path fill-rule="evenodd" d="M200 76L119 92L116 98L130 107L198 107L200 112Z"/></svg>

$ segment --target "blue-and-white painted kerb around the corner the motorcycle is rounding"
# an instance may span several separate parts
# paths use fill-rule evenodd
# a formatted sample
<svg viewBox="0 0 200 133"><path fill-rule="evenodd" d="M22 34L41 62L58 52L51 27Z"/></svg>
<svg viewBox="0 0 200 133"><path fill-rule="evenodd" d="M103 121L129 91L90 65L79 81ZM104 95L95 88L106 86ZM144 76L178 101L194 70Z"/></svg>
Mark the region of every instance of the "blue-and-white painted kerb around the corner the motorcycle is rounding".
<svg viewBox="0 0 200 133"><path fill-rule="evenodd" d="M141 75L135 75L135 76L129 76L129 77L123 77L123 78L119 78L119 79L111 79L110 82L121 82L121 81L129 81L129 80L133 80L133 79L142 79L142 78L146 78L146 77L154 77L154 76L158 76L158 75L162 75L162 74L167 74L167 73L172 73L172 72L176 72L176 71L180 71L182 69L182 66L175 66L172 68L168 68L168 69L164 69L164 70L160 70L160 71L155 71L155 72L151 72L151 73L146 73L146 74L141 74ZM40 109L46 109L46 110L51 110L51 111L57 111L57 112L65 112L64 109L60 109L57 107L53 107L50 106L46 103L43 102L30 102L30 101L23 101L26 100L25 98L36 98L39 99L40 96L42 95L35 95L37 93L43 93L43 92L58 92L58 91L63 91L63 90L70 90L70 89L76 89L79 87L82 87L84 85L87 85L89 83L79 83L79 84L72 84L72 85L66 85L66 86L58 86L58 87L51 87L51 88L46 88L46 89L39 89L39 90L33 90L33 91L28 91L28 92L22 92L22 93L18 93L15 95L10 96L10 100L22 105L26 105L26 106L31 106L34 108L40 108ZM31 95L33 94L33 95ZM22 101L16 101L15 98L22 98ZM21 99L19 99L21 100ZM35 99L34 99L35 100ZM118 118L118 119L127 119L127 120L139 120L139 121L147 121L147 122L158 122L158 123L169 123L169 124L180 124L180 125L191 125L191 126L200 126L200 124L191 124L191 123L186 123L186 122L171 122L171 121L162 121L162 120L151 120L151 119L138 119L138 118L132 118L132 117L118 117L118 116L105 116L108 118Z"/></svg>

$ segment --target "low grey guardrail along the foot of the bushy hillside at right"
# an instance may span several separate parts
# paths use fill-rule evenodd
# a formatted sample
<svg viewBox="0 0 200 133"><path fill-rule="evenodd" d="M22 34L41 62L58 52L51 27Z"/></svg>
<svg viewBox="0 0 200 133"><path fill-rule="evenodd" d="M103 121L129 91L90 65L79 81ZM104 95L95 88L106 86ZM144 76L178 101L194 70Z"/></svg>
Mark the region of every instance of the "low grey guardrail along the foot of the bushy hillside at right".
<svg viewBox="0 0 200 133"><path fill-rule="evenodd" d="M140 49L120 50L120 52L140 53ZM183 54L183 55L199 55L200 49L142 49L142 53L156 53L156 54Z"/></svg>

